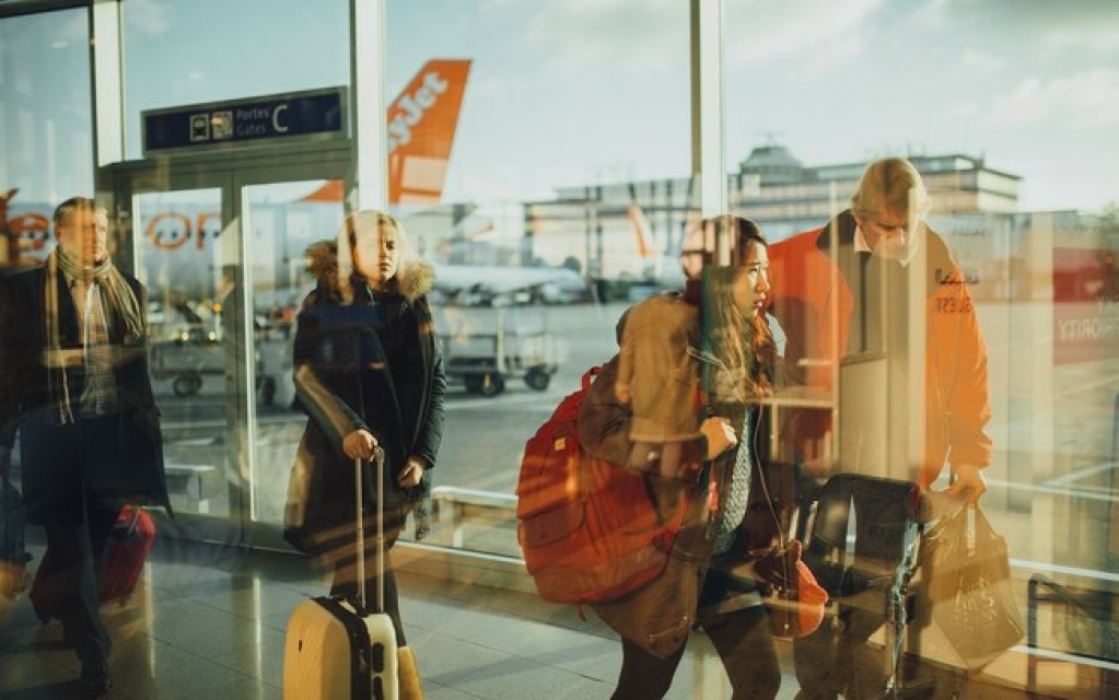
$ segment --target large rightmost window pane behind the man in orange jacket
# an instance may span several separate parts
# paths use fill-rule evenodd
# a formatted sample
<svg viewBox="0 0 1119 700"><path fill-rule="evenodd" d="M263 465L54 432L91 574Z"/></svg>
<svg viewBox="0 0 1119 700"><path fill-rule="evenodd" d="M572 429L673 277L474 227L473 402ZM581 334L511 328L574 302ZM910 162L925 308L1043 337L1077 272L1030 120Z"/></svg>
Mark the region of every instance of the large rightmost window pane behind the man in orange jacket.
<svg viewBox="0 0 1119 700"><path fill-rule="evenodd" d="M726 4L726 36L765 37L727 47L726 160L741 160L728 173L735 209L758 220L778 250L847 209L868 161L903 157L921 173L932 202L929 228L957 266L929 269L927 291L939 299L928 310L886 314L887 322L929 333L915 346L910 338L910 348L928 349L929 373L919 361L902 376L878 373L874 384L865 373L845 380L847 368L840 369L835 427L862 416L862 427L888 429L897 419L893 408L912 404L911 417L920 413L916 427L925 431L919 447L942 431L949 458L967 461L961 455L974 454L977 441L961 436L969 419L984 419L949 403L975 379L989 395L985 432L994 447L981 504L1009 546L1019 605L1027 604L1026 580L1038 574L1069 590L1113 590L1119 221L1115 188L1104 183L1115 180L1110 163L1119 140L1113 119L1102 115L1115 114L1107 95L1119 84L1119 44L1111 39L1119 15L1090 3L1014 12L996 2L808 4L794 12ZM816 18L807 35L805 11ZM1043 62L1034 59L1037 51ZM931 250L937 238L923 240ZM777 256L772 296L783 347L803 356L819 324L843 320L822 318L805 299L814 282L828 284L803 276L803 256L820 248L797 250L799 259ZM830 282L857 297L859 291L845 287L848 278ZM961 287L970 299L943 299ZM962 357L968 334L961 324L972 311L986 366L939 371L946 357ZM946 314L953 320L947 329ZM856 381L862 388L850 391ZM908 397L892 396L905 382ZM845 439L839 435L837 443L846 470L853 465L843 462ZM797 446L790 460L806 466L805 454ZM882 471L913 476L914 467L941 466L924 453L916 462ZM948 471L935 488L947 485ZM1055 605L1049 616L1050 604L1041 604L1043 646L1116 661L1113 603L1100 608L1091 594L1079 602L1087 606L1081 611L1096 612Z"/></svg>

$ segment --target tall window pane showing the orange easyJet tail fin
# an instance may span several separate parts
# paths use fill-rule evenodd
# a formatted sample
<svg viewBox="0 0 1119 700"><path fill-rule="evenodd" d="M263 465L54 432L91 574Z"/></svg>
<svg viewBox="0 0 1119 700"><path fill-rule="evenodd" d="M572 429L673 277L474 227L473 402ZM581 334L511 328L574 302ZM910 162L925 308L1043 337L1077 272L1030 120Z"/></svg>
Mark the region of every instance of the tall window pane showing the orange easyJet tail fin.
<svg viewBox="0 0 1119 700"><path fill-rule="evenodd" d="M697 201L688 4L642 3L636 22L617 3L386 8L393 211L436 266L451 378L434 485L451 500L499 496L430 541L519 557L501 496L524 441L614 353L630 300L683 281L676 256ZM471 62L454 116L453 67L426 77L442 56ZM438 89L419 92L425 81ZM446 152L423 151L417 133L439 129L427 143Z"/></svg>

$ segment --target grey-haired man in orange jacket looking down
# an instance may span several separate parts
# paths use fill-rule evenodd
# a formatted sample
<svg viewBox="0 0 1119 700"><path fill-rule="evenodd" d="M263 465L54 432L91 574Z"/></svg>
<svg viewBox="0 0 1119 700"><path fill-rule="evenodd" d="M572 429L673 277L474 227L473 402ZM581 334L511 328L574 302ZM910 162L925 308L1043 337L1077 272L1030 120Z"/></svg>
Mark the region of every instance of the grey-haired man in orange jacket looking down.
<svg viewBox="0 0 1119 700"><path fill-rule="evenodd" d="M902 477L927 489L946 463L951 465L949 494L974 503L986 491L982 470L991 454L986 346L965 278L943 239L924 223L929 207L921 176L909 161L875 161L849 209L822 228L769 248L770 313L786 335L786 366L793 368L794 380L839 397L844 427L836 458L827 448L834 438L831 410L790 412L781 437L805 467L799 489L808 493L800 498L810 500L817 480L837 471ZM859 358L876 359L884 369L873 381L864 376L838 390L836 378L847 377L838 368ZM844 405L859 394L863 406ZM852 413L880 406L874 397L886 394L891 415L856 416L864 434L853 435L858 431L850 429ZM896 424L910 431L904 438ZM886 441L904 448L883 450ZM867 450L872 443L880 446ZM869 460L868 453L874 453ZM904 463L897 454L905 454ZM847 609L844 622L838 647L826 630L797 641L798 697L881 692L886 680L882 651L863 642L882 625L882 615Z"/></svg>

